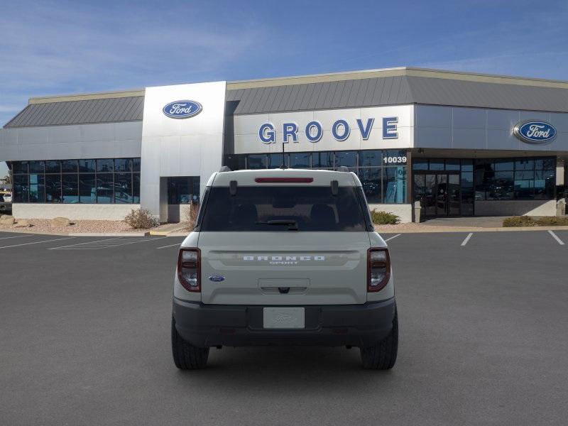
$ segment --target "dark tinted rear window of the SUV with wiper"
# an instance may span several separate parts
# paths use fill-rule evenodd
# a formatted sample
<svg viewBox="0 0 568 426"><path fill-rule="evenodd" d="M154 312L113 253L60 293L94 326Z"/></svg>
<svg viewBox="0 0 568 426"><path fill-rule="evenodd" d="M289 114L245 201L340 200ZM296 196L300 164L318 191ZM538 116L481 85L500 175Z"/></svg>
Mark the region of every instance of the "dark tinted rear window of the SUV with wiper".
<svg viewBox="0 0 568 426"><path fill-rule="evenodd" d="M355 187L211 187L200 231L366 231Z"/></svg>

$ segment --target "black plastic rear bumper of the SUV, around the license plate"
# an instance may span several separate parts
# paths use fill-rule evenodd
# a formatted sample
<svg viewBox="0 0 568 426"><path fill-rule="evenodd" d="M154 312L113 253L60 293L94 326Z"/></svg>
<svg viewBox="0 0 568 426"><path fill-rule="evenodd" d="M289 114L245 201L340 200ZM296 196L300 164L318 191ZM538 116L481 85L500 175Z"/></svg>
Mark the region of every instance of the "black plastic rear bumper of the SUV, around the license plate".
<svg viewBox="0 0 568 426"><path fill-rule="evenodd" d="M372 346L393 327L394 297L363 305L307 305L305 329L264 329L259 305L204 305L174 299L175 328L194 346Z"/></svg>

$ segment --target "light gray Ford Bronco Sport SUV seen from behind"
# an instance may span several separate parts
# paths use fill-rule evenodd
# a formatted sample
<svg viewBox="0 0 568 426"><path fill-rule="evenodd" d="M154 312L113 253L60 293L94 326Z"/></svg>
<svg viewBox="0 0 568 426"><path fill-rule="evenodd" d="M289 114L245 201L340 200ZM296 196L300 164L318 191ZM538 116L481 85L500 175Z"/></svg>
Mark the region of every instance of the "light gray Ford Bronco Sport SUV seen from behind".
<svg viewBox="0 0 568 426"><path fill-rule="evenodd" d="M178 368L212 346L358 346L364 368L395 364L391 260L361 182L331 170L239 170L207 182L173 290Z"/></svg>

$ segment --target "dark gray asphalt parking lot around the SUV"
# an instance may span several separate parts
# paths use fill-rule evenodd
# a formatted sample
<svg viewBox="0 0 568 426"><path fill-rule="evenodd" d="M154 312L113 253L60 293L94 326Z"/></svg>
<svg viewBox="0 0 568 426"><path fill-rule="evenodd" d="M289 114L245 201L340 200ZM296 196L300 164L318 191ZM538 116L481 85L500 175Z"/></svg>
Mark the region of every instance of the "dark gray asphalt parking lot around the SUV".
<svg viewBox="0 0 568 426"><path fill-rule="evenodd" d="M568 231L383 237L392 371L293 347L212 349L182 372L181 237L0 233L0 425L565 425Z"/></svg>

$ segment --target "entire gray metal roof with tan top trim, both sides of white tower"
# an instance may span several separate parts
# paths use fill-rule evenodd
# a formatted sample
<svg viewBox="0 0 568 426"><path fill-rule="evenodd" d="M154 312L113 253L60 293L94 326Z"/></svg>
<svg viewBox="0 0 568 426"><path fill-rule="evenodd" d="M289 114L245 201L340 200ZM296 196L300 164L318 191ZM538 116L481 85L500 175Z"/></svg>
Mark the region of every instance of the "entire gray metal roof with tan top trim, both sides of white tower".
<svg viewBox="0 0 568 426"><path fill-rule="evenodd" d="M32 98L5 127L141 121L143 93ZM228 82L226 100L234 114L401 104L568 112L568 82L392 68Z"/></svg>

